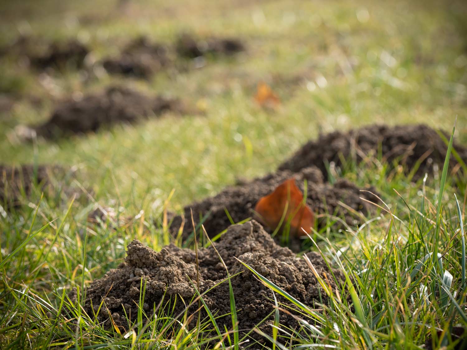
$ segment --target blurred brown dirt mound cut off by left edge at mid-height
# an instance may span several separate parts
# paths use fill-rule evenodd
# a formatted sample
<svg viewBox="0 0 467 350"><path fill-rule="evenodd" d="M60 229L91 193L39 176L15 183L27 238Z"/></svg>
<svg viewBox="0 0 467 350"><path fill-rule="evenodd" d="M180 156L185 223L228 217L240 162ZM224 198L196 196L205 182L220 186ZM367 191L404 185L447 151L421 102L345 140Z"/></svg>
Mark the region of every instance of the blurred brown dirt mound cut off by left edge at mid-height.
<svg viewBox="0 0 467 350"><path fill-rule="evenodd" d="M0 205L5 209L16 208L21 205L24 196L30 196L34 189L53 196L57 191L54 180L67 174L72 175L72 172L57 165L11 167L0 164ZM73 193L71 189L65 189L65 192Z"/></svg>

